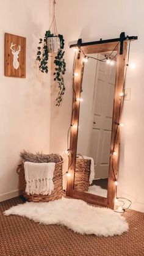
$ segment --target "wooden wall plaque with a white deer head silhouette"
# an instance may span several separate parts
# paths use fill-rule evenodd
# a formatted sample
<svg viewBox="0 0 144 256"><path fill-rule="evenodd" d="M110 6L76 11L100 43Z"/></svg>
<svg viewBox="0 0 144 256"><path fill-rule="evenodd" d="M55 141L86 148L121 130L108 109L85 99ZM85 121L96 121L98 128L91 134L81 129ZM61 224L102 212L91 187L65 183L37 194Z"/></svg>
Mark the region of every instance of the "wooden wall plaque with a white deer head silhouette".
<svg viewBox="0 0 144 256"><path fill-rule="evenodd" d="M5 33L4 75L26 78L26 38Z"/></svg>

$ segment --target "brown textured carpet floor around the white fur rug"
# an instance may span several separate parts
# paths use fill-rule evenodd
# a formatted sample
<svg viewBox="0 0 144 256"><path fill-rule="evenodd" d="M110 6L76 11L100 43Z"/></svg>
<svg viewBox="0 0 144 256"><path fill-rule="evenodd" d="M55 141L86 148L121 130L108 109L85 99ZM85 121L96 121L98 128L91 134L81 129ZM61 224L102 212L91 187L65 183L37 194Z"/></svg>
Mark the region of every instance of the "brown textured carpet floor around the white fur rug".
<svg viewBox="0 0 144 256"><path fill-rule="evenodd" d="M66 227L42 225L3 211L23 203L16 197L0 203L1 256L141 256L144 255L144 214L124 213L129 232L120 236L79 235Z"/></svg>

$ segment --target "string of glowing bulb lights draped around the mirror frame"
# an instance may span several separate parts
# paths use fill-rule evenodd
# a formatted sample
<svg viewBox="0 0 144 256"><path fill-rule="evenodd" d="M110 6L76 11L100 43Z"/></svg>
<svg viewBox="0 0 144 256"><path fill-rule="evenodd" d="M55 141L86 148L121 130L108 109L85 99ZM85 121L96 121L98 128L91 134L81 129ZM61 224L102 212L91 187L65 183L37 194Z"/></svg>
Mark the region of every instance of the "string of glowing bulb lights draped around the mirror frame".
<svg viewBox="0 0 144 256"><path fill-rule="evenodd" d="M76 91L74 89L74 77L79 76L78 73L74 72L74 67L75 67L75 64L76 64L76 53L77 52L81 53L81 51L82 51L82 53L84 55L84 58L83 58L83 62L84 63L88 62L88 59L95 59L96 61L99 61L99 62L106 62L106 64L108 64L108 65L115 65L114 59L115 59L115 57L117 57L118 53L115 54L114 56L113 56L113 53L117 50L119 44L120 44L120 42L117 43L117 45L115 46L113 51L110 52L110 54L105 54L103 59L98 59L98 58L93 57L93 56L87 56L87 54L84 53L84 51L83 51L83 49L81 47L74 47L73 48L73 50L75 52L75 54L74 54L74 62L73 62L73 93L74 93L74 98L76 100L74 101L74 104L73 104L73 110L72 110L72 114L71 114L71 122L70 122L70 126L68 128L68 133L67 133L67 150L65 152L67 153L69 160L71 159L71 161L69 161L69 164L68 164L68 170L70 169L71 164L73 163L73 158L72 158L73 155L72 155L72 152L71 152L70 147L69 147L69 135L70 135L71 128L77 128L77 125L74 125L74 123L73 123L73 113L74 113L74 110L76 108L76 101L83 101L83 99L81 97L80 98L76 98ZM135 68L135 64L129 64L130 46L131 46L131 40L129 40L128 57L127 57L127 64L126 64L125 73L124 73L123 88L122 88L121 92L119 93L120 104L119 104L119 108L118 108L117 122L115 122L117 127L115 129L115 135L114 135L114 139L113 139L113 150L110 153L110 161L112 161L112 172L113 172L113 177L114 177L114 181L113 182L115 184L115 203L117 203L117 202L121 202L122 203L122 205L120 205L120 206L118 206L117 208L114 209L118 213L123 213L125 210L128 210L128 208L130 207L130 205L132 203L131 200L128 200L128 199L126 199L124 197L117 197L118 180L117 180L117 177L115 175L115 170L114 170L114 166L113 166L113 162L115 161L115 156L117 156L117 154L118 154L117 150L115 150L115 146L117 144L118 131L119 131L119 129L121 127L124 126L124 124L121 123L121 112L122 112L124 97L126 96L125 85L126 85L127 70L128 70L128 67ZM70 173L68 171L65 172L65 174L67 175L67 177L70 177ZM63 174L63 175L65 175L65 174ZM129 202L129 205L128 205L127 208L123 208L124 200L127 200Z"/></svg>

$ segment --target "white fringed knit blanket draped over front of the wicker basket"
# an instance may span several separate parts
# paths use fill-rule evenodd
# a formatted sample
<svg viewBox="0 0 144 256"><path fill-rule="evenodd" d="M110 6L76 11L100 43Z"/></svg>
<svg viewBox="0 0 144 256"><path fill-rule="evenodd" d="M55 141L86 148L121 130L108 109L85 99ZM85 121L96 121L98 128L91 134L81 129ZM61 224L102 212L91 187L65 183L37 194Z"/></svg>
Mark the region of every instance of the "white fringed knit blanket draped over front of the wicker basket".
<svg viewBox="0 0 144 256"><path fill-rule="evenodd" d="M26 193L50 195L54 190L54 168L55 163L24 162Z"/></svg>

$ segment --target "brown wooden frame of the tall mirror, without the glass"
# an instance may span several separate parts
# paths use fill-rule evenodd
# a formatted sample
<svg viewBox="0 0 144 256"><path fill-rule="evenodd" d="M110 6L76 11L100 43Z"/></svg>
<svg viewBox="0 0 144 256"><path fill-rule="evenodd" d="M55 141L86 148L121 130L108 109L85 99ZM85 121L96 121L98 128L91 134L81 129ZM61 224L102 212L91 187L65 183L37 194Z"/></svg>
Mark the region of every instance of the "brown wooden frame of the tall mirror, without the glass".
<svg viewBox="0 0 144 256"><path fill-rule="evenodd" d="M88 43L87 43L88 44ZM126 67L126 52L127 42L123 42L123 53L120 54L120 43L108 42L99 44L90 44L85 46L79 46L79 51L75 53L74 57L74 74L77 76L73 78L73 108L71 115L71 133L70 133L70 148L69 148L69 169L70 177L67 181L67 196L75 199L82 199L89 203L95 203L103 207L114 208L114 201L116 195L117 186L115 185L115 179L118 178L118 166L120 159L120 108L123 108L123 98L120 93L124 90L124 70ZM113 100L113 119L112 119L112 134L110 142L110 161L109 161L109 178L107 188L107 198L89 194L87 192L77 191L74 189L74 170L76 167L76 153L77 153L77 136L79 126L79 109L80 101L76 101L81 97L82 89L82 76L84 73L84 54L95 54L112 52L113 49L118 51L117 64L116 64L116 79L115 79L115 95ZM121 104L121 107L120 107ZM117 130L117 131L116 131ZM115 137L115 134L117 136ZM114 149L113 149L114 145ZM113 156L113 150L117 152L117 155Z"/></svg>

